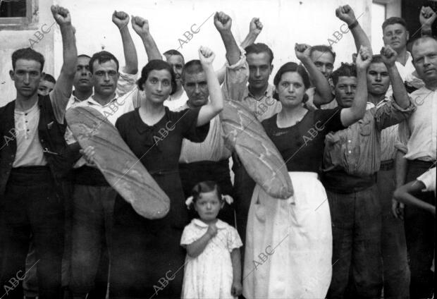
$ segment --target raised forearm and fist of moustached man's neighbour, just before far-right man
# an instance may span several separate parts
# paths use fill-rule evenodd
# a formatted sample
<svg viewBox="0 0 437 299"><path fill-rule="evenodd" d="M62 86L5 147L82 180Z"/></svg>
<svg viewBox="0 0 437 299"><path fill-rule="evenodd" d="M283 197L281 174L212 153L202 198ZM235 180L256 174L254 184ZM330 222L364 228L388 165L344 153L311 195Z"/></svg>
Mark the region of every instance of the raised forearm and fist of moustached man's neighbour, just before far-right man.
<svg viewBox="0 0 437 299"><path fill-rule="evenodd" d="M390 76L390 83L393 87L393 97L396 104L398 104L402 109L407 109L410 106L410 99L405 90L405 85L400 77L398 68L396 67L396 58L398 53L393 50L392 47L386 46L381 49L381 58L387 67L388 75Z"/></svg>

